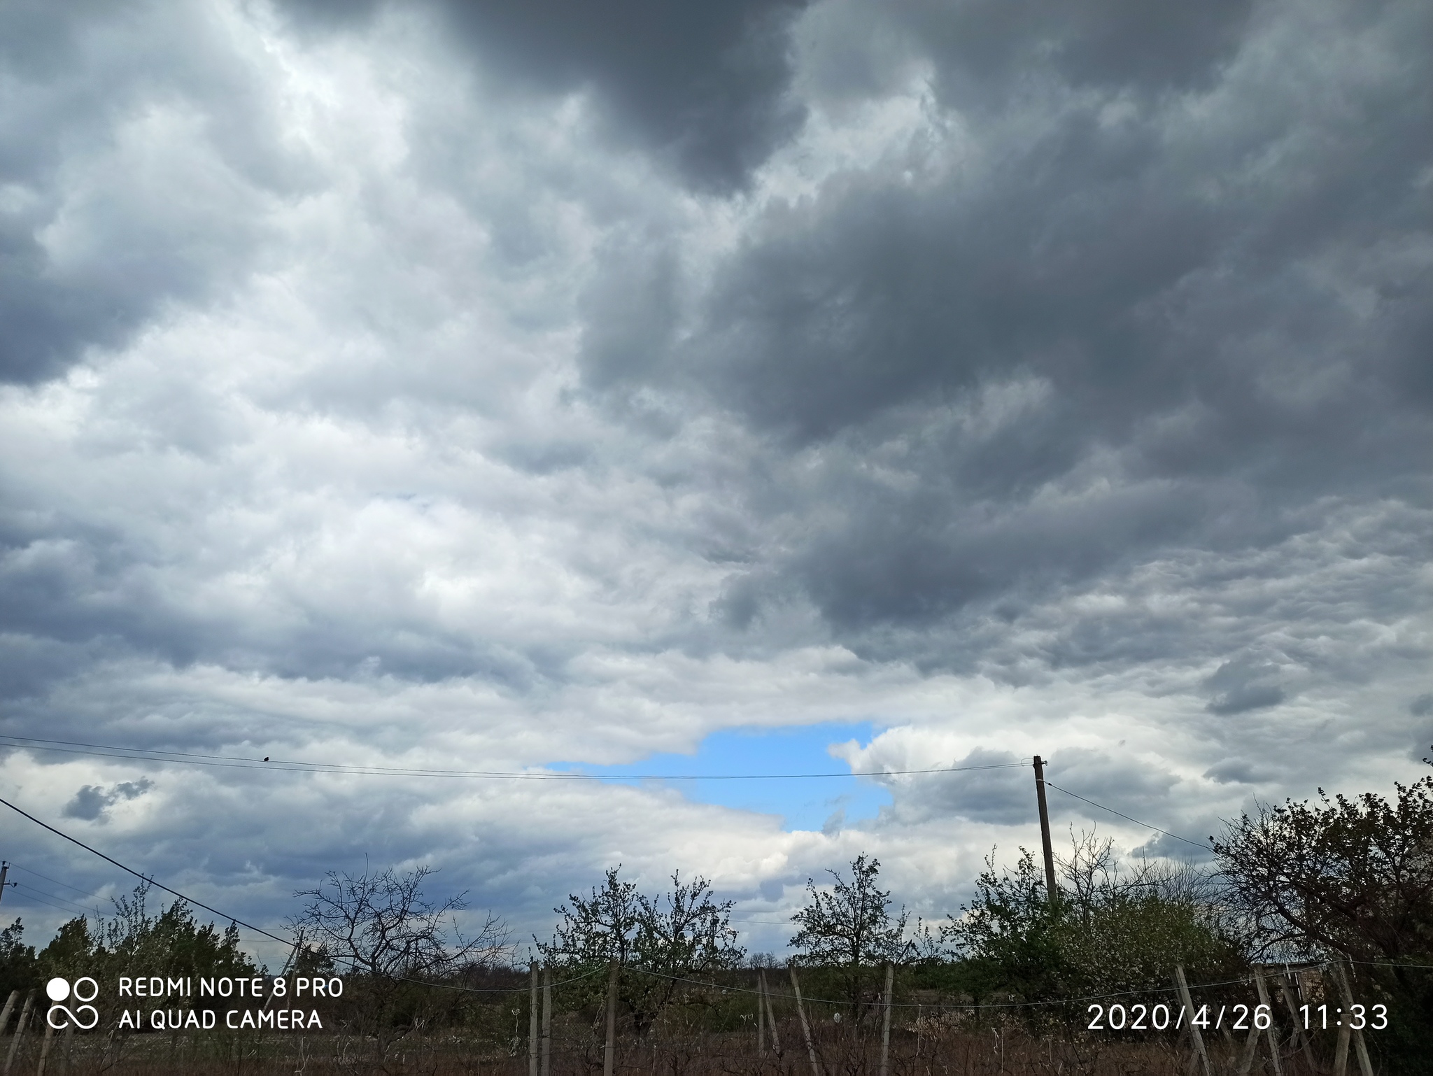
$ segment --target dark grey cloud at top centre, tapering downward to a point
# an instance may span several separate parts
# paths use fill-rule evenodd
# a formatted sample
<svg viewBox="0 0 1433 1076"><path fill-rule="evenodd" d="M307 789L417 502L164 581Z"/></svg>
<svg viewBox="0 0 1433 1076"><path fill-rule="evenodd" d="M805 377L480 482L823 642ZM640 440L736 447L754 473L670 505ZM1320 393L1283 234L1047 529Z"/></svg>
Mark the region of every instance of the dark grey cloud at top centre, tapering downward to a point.
<svg viewBox="0 0 1433 1076"><path fill-rule="evenodd" d="M509 86L592 87L613 128L702 189L731 189L800 123L785 97L801 0L434 0L453 40ZM351 27L383 4L285 0L299 24Z"/></svg>

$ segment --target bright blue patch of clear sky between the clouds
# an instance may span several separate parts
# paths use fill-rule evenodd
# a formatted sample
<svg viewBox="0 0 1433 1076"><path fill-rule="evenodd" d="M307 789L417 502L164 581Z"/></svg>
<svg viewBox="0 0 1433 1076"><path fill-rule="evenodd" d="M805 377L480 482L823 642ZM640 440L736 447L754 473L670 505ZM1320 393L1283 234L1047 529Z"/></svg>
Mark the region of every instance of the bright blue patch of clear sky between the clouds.
<svg viewBox="0 0 1433 1076"><path fill-rule="evenodd" d="M868 721L741 728L714 732L694 754L656 754L615 767L556 764L577 772L635 785L665 784L688 799L741 811L778 814L788 831L840 830L874 818L891 802L890 794L870 778L850 775L850 767L833 758L830 748L851 739L868 744L878 729ZM661 774L682 779L662 781L636 775ZM731 774L830 774L830 777L711 779ZM702 779L706 777L708 779Z"/></svg>

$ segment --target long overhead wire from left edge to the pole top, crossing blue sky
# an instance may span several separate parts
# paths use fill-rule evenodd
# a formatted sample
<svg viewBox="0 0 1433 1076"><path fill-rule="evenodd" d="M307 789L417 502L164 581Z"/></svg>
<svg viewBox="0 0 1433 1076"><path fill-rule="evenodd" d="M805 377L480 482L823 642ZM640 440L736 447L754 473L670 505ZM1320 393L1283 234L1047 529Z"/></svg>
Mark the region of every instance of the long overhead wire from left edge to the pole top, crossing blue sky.
<svg viewBox="0 0 1433 1076"><path fill-rule="evenodd" d="M17 741L17 742L6 742ZM983 767L931 767L927 769L853 769L844 774L566 774L502 769L426 769L421 767L373 767L347 762L311 762L244 755L202 755L189 751L129 748L113 744L85 744L69 739L43 739L0 732L0 746L26 751L53 751L64 755L125 758L136 762L172 762L221 769L275 769L294 774L348 774L358 777L454 777L507 781L795 781L848 777L910 777L917 774L966 774L977 769L1015 769L1025 762L996 762Z"/></svg>

